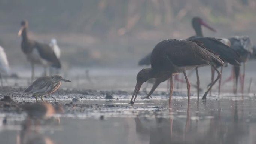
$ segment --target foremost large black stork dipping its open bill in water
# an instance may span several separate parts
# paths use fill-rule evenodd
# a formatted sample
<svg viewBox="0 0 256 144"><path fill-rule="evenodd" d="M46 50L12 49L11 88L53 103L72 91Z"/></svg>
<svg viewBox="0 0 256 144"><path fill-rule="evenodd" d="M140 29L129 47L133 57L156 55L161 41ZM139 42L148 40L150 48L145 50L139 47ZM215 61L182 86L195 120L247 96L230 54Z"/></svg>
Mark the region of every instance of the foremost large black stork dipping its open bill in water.
<svg viewBox="0 0 256 144"><path fill-rule="evenodd" d="M216 66L222 66L224 62L215 53L204 48L201 42L192 40L179 40L179 39L169 39L159 42L151 53L151 68L142 69L137 74L137 84L135 86L134 92L131 98L131 104L135 102L135 99L140 91L141 85L149 80L150 78L156 78L151 91L147 95L149 97L157 86L170 78L170 98L169 104L171 104L171 96L173 92L173 74L183 73L187 82L188 89L188 104L190 95L190 83L188 77L186 76L186 70L203 66L212 65L218 73L218 77L214 81L219 79L220 72L217 70ZM210 88L214 85L211 84L209 89L205 92L210 91Z"/></svg>

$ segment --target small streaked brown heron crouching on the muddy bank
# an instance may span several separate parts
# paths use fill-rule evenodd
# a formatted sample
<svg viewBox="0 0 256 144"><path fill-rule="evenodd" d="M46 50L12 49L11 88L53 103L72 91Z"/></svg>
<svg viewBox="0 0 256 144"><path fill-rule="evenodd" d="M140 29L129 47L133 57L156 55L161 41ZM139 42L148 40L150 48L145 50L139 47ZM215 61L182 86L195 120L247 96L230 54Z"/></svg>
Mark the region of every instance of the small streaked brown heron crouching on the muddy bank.
<svg viewBox="0 0 256 144"><path fill-rule="evenodd" d="M59 75L53 76L42 76L35 80L32 85L30 85L25 92L33 93L36 96L40 96L41 100L43 100L43 95L51 94L57 91L60 88L61 82L71 82L70 80L65 80Z"/></svg>

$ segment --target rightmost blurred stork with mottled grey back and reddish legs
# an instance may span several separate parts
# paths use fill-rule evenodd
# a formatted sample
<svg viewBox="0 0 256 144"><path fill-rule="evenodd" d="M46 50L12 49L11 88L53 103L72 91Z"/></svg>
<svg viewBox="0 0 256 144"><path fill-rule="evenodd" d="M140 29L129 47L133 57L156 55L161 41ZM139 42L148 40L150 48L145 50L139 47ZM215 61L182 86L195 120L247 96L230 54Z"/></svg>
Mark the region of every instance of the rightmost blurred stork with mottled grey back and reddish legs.
<svg viewBox="0 0 256 144"><path fill-rule="evenodd" d="M229 80L233 79L233 76L235 77L235 87L233 88L233 92L237 93L237 83L238 83L238 77L240 77L240 83L241 83L241 91L243 93L244 91L244 77L245 77L245 63L249 59L250 55L252 55L253 52L253 44L249 38L249 36L234 36L229 38L229 41L231 42L231 48L234 49L236 52L239 53L240 58L238 59L239 63L243 63L243 74L240 76L240 66L234 66L233 70L231 71L231 76L225 80L224 83L228 82Z"/></svg>

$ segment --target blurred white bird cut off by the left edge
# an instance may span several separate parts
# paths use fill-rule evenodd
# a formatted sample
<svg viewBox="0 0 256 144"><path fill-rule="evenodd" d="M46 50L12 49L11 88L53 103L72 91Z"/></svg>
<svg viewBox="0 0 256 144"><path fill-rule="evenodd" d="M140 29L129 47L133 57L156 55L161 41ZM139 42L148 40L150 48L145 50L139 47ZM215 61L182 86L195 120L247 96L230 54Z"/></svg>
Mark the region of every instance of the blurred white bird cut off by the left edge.
<svg viewBox="0 0 256 144"><path fill-rule="evenodd" d="M10 74L9 62L4 49L0 46L0 80L1 86L3 86L2 76L8 76Z"/></svg>

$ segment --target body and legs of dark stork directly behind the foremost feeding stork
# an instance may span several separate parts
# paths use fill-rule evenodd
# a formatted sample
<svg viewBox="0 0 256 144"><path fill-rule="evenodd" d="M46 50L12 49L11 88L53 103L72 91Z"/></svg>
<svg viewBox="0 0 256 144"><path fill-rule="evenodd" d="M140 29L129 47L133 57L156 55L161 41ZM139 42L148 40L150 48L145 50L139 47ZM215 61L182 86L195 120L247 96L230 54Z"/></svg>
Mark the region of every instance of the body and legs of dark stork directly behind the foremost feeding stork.
<svg viewBox="0 0 256 144"><path fill-rule="evenodd" d="M188 40L196 40L199 42L202 42L204 44L204 47L213 51L214 53L216 53L217 55L219 55L219 57L225 62L225 63L229 63L231 65L234 66L240 66L240 63L238 62L240 59L240 55L232 48L230 48L228 46L228 42L227 39L218 39L218 38L213 38L213 37L191 37ZM224 40L226 40L227 42L223 42ZM224 44L226 43L226 45ZM220 70L220 73L222 73L222 68ZM198 95L198 99L199 99L199 74L198 74L198 68L196 68L196 76L197 76L197 95ZM212 69L212 74L211 74L211 80L213 82L214 80L214 69ZM220 85L221 85L221 76L219 79L219 94L220 94ZM206 95L204 95L202 97L202 99L206 99Z"/></svg>

